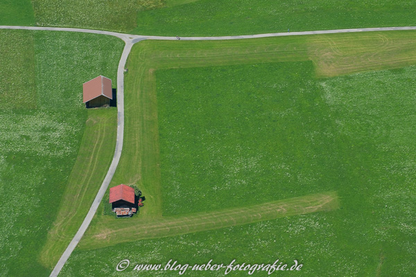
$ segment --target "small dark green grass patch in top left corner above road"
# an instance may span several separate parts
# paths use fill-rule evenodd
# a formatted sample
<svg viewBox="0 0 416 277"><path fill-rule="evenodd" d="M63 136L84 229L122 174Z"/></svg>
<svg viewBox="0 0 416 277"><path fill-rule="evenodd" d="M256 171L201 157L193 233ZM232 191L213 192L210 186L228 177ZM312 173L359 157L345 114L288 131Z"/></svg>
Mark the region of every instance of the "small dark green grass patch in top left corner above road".
<svg viewBox="0 0 416 277"><path fill-rule="evenodd" d="M0 0L0 25L35 24L31 0Z"/></svg>

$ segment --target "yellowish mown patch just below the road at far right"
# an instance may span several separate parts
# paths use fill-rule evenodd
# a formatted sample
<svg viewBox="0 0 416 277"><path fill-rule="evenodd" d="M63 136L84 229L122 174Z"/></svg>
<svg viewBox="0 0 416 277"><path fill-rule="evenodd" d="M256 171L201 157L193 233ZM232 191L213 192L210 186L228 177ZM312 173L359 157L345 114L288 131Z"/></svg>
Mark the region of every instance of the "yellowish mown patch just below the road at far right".
<svg viewBox="0 0 416 277"><path fill-rule="evenodd" d="M309 56L316 74L333 77L416 63L413 32L340 34L310 37Z"/></svg>

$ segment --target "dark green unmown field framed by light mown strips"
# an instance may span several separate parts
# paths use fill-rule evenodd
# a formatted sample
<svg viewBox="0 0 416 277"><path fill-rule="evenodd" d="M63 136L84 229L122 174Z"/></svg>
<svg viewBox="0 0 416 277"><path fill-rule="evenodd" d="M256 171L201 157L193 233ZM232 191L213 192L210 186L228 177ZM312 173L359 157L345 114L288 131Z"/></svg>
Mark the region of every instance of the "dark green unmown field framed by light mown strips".
<svg viewBox="0 0 416 277"><path fill-rule="evenodd" d="M312 62L157 71L163 215L343 186L346 145L313 76Z"/></svg>

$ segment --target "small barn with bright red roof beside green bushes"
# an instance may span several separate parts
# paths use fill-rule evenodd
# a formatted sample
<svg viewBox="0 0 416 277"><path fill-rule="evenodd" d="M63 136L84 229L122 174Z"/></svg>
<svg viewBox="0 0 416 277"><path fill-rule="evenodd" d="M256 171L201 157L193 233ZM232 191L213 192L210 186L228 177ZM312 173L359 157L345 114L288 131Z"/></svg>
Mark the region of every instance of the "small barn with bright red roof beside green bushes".
<svg viewBox="0 0 416 277"><path fill-rule="evenodd" d="M110 188L110 203L117 217L131 217L137 212L135 189L123 184Z"/></svg>

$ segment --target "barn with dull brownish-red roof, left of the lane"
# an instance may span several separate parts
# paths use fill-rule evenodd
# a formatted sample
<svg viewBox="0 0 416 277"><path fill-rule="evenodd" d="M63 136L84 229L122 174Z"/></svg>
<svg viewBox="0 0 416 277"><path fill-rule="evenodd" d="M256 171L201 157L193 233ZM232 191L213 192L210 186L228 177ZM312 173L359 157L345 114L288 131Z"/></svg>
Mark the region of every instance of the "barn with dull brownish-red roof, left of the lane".
<svg viewBox="0 0 416 277"><path fill-rule="evenodd" d="M110 105L112 98L111 80L103 75L83 84L83 100L87 108Z"/></svg>

